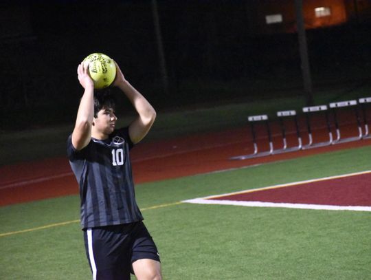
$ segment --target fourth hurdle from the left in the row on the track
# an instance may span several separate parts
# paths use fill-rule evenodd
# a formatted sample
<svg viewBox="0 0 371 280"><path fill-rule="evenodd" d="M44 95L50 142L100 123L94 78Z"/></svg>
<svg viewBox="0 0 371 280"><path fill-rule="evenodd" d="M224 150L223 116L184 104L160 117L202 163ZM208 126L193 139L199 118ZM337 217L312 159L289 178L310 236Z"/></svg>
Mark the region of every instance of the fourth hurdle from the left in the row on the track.
<svg viewBox="0 0 371 280"><path fill-rule="evenodd" d="M357 110L357 100L347 100L347 101L330 103L329 106L333 111L333 116L334 116L334 121L335 121L335 129L336 129L336 135L337 135L337 138L333 141L333 144L361 140L362 139L362 128L361 128L361 122L359 121L359 114L358 114L358 110ZM357 126L358 126L358 136L348 137L348 138L341 138L339 122L337 120L337 109L346 108L346 107L350 107L350 106L353 107L354 112L355 112L355 117L356 117Z"/></svg>

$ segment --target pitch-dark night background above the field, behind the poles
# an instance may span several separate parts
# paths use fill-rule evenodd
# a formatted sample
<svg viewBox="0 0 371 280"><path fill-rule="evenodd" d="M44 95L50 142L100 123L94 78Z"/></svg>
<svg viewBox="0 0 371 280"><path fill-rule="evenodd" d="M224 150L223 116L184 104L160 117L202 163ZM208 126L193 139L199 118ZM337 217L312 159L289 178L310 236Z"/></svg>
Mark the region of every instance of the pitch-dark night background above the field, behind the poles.
<svg viewBox="0 0 371 280"><path fill-rule="evenodd" d="M297 33L260 32L254 21L266 2L158 0L166 91L152 1L2 1L0 129L73 122L76 68L92 52L115 59L160 111L304 98ZM371 82L370 33L369 17L306 30L314 95Z"/></svg>

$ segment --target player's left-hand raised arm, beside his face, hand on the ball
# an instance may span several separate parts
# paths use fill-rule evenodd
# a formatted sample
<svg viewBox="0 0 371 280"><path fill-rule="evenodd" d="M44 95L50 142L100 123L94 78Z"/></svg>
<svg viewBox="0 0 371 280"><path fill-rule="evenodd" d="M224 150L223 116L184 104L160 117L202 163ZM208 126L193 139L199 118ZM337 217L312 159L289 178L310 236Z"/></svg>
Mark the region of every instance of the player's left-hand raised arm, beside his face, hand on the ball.
<svg viewBox="0 0 371 280"><path fill-rule="evenodd" d="M75 128L72 133L72 144L75 149L80 150L86 147L91 140L91 125L94 117L94 85L89 76L89 64L78 65L78 80L85 91L78 107Z"/></svg>

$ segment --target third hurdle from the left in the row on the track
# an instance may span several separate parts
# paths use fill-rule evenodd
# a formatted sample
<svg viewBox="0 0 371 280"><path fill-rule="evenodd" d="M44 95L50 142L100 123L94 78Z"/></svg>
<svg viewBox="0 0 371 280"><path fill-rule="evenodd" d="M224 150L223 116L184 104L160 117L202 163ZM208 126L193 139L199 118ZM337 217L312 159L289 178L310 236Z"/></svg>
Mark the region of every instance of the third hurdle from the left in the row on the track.
<svg viewBox="0 0 371 280"><path fill-rule="evenodd" d="M327 105L319 105L319 106L311 106L311 107L303 107L303 113L305 113L306 116L306 127L308 129L308 144L303 145L302 149L312 149L316 147L324 147L332 144L333 142L333 133L331 133L330 129L330 121L328 119L328 107ZM311 113L315 112L324 112L325 119L326 119L326 126L328 130L328 141L326 142L317 142L313 143L313 135L312 135L312 129L311 129L311 120L310 115Z"/></svg>

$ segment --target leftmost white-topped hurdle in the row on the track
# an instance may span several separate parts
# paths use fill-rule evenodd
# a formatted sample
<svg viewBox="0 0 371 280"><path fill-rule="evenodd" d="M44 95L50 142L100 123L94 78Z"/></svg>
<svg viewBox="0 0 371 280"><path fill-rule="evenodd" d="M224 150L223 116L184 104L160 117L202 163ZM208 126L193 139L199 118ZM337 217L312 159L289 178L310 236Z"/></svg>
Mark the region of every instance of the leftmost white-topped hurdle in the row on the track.
<svg viewBox="0 0 371 280"><path fill-rule="evenodd" d="M267 115L258 115L258 116L249 116L248 117L250 127L251 127L251 136L254 144L254 153L249 155L237 155L230 160L247 160L248 158L259 158L265 155L271 155L273 153L273 142L271 137L271 129L269 128L268 116ZM258 143L256 142L256 131L254 127L255 122L265 122L265 127L267 129L268 141L269 141L269 151L258 151Z"/></svg>

